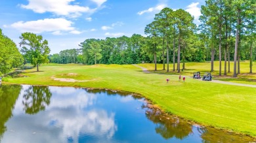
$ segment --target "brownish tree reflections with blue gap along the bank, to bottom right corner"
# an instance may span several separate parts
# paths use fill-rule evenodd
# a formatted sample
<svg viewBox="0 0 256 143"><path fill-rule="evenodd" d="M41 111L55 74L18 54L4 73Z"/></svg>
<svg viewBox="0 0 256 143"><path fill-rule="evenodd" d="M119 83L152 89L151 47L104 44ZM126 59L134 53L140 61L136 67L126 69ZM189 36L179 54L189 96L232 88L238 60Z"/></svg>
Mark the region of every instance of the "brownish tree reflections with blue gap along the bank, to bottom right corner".
<svg viewBox="0 0 256 143"><path fill-rule="evenodd" d="M239 143L252 142L255 140L249 136L237 135L221 129L192 125L183 119L165 114L160 110L153 108L151 104L143 104L142 108L146 108L146 117L156 124L156 133L160 134L165 139L178 138L181 141L184 140L184 138L190 138L189 142ZM194 136L194 138L192 136ZM202 138L202 140L193 140L195 138Z"/></svg>

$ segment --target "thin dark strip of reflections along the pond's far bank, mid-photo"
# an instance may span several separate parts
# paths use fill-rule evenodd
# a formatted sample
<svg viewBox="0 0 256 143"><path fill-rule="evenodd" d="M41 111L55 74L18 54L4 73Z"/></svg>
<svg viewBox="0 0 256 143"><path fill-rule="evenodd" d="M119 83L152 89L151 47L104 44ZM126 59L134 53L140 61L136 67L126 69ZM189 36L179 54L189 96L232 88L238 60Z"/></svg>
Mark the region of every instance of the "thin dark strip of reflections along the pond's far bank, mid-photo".
<svg viewBox="0 0 256 143"><path fill-rule="evenodd" d="M109 96L116 96L119 95L121 97L126 97L129 95L133 95L133 99L142 99L143 97L139 95L134 95L133 93L125 92L125 91L113 91L108 89L85 89L88 93L105 93Z"/></svg>

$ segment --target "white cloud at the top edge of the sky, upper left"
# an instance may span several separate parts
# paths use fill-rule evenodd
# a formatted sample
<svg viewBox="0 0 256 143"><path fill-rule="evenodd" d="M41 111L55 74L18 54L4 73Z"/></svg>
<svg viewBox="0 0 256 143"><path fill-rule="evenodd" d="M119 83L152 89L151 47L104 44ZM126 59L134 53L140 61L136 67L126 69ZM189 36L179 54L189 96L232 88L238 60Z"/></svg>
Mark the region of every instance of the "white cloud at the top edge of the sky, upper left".
<svg viewBox="0 0 256 143"><path fill-rule="evenodd" d="M58 16L70 16L76 18L81 16L83 12L94 12L96 9L89 7L81 7L79 5L71 5L75 0L28 0L28 5L20 5L22 8L31 9L33 12L45 13L53 12Z"/></svg>

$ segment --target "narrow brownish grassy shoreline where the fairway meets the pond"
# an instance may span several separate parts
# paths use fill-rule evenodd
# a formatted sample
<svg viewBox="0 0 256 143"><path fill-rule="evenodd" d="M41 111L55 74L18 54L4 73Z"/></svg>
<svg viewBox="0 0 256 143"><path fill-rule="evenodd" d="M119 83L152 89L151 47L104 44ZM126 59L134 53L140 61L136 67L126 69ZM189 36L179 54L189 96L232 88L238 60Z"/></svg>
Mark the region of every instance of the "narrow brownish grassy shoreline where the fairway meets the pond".
<svg viewBox="0 0 256 143"><path fill-rule="evenodd" d="M147 99L146 97L144 97L143 95L139 94L139 93L134 93L134 92L129 92L129 91L121 91L121 90L117 90L117 89L107 89L107 88L95 88L95 87L81 87L81 86L54 86L54 85L40 85L40 84L13 84L13 83L9 83L9 82L2 82L2 84L10 84L10 85L27 85L27 86L53 86L53 87L75 87L75 88L83 88L83 89L103 89L103 90L110 90L113 92L121 92L121 93L130 93L132 96L139 96L139 97L143 97L144 101L146 102L146 107L150 108L152 110L160 110L160 112L162 112L163 114L167 115L167 116L174 116L175 118L180 118L184 121L186 121L187 123L189 123L190 125L194 125L200 128L211 128L211 129L217 129L217 130L221 130L224 133L232 133L234 135L242 135L242 136L249 136L250 138L252 138L252 142L256 142L256 136L252 136L252 135L248 135L245 133L240 133L237 131L232 131L230 129L226 129L226 128L221 128L221 127L215 127L213 125L206 125L203 123L198 123L197 121L193 121L190 119L186 119L186 118L182 118L181 116L177 116L175 114L172 114L171 112L166 112L165 110L163 110L158 104L154 104L153 101L150 101L150 99ZM146 114L146 112L145 112Z"/></svg>

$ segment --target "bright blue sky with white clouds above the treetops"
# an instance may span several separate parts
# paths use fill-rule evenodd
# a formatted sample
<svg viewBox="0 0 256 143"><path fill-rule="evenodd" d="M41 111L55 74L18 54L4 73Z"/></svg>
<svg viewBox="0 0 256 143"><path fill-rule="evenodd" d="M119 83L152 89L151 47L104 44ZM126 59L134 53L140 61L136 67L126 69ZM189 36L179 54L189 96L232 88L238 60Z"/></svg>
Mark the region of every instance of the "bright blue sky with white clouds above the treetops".
<svg viewBox="0 0 256 143"><path fill-rule="evenodd" d="M1 0L0 28L17 45L21 33L43 35L56 54L85 39L144 35L164 7L187 10L200 24L201 5L204 0Z"/></svg>

